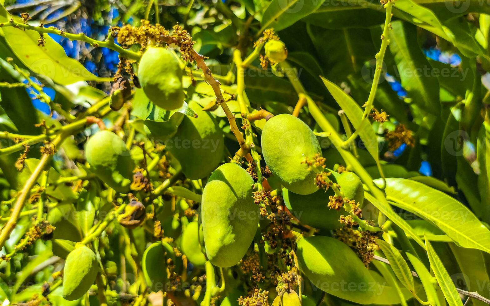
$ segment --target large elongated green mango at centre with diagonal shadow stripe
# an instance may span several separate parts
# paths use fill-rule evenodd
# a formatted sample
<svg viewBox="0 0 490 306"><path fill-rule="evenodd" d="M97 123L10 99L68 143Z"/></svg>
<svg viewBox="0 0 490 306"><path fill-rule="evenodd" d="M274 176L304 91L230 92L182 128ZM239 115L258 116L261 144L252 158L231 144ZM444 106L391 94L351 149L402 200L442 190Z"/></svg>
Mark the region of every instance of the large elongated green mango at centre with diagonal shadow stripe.
<svg viewBox="0 0 490 306"><path fill-rule="evenodd" d="M235 163L221 165L202 193L202 227L206 255L215 266L230 267L242 259L259 223L252 198L252 177Z"/></svg>

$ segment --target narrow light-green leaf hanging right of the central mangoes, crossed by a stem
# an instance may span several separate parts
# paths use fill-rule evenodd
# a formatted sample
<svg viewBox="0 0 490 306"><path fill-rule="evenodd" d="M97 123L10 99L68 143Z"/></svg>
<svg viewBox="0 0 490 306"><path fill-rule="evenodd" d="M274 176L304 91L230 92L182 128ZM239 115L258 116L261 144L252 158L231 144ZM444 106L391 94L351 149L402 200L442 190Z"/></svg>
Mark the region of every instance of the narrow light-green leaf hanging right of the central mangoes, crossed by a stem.
<svg viewBox="0 0 490 306"><path fill-rule="evenodd" d="M376 134L374 134L374 130L372 129L369 120L364 120L364 122L361 121L361 118L363 117L363 110L361 107L339 86L324 77L321 77L321 80L337 103L339 103L354 128L359 131L359 137L361 137L361 140L364 142L366 149L369 154L371 154L372 158L374 158L376 164L379 165L379 148Z"/></svg>

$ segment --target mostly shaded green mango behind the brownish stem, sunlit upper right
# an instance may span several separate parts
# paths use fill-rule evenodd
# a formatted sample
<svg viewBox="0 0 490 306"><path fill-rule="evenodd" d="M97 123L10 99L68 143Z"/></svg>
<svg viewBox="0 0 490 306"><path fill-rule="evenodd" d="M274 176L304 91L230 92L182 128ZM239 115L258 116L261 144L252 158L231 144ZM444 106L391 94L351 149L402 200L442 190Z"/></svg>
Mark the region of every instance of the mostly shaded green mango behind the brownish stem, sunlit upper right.
<svg viewBox="0 0 490 306"><path fill-rule="evenodd" d="M180 162L182 172L198 180L208 176L223 158L224 138L213 115L194 101L189 103L197 118L185 117L166 147Z"/></svg>

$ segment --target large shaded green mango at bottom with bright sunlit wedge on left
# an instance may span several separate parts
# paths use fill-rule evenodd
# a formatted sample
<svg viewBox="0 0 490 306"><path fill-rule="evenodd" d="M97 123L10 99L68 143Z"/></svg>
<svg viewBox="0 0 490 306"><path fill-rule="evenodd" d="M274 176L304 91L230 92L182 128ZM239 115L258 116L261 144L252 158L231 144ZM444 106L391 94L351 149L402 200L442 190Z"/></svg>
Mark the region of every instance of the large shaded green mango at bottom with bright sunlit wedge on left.
<svg viewBox="0 0 490 306"><path fill-rule="evenodd" d="M299 270L320 290L363 305L375 300L375 280L346 244L326 236L300 236L296 242Z"/></svg>

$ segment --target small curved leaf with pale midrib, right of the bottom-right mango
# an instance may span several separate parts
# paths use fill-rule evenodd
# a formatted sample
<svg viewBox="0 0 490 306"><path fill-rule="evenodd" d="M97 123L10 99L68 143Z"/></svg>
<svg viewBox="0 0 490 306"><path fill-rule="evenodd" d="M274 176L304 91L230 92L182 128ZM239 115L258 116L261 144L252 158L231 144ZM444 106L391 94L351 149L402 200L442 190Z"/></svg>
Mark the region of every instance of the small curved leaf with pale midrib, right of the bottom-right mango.
<svg viewBox="0 0 490 306"><path fill-rule="evenodd" d="M398 280L405 287L407 287L408 290L410 290L411 292L415 292L414 277L412 276L412 271L410 271L407 262L405 261L405 259L403 259L400 252L394 246L384 240L376 239L376 243L379 245L386 258L390 260L390 266L392 267L393 272L395 273Z"/></svg>

